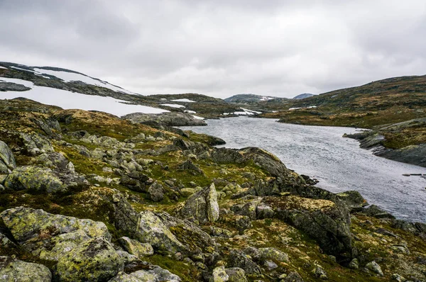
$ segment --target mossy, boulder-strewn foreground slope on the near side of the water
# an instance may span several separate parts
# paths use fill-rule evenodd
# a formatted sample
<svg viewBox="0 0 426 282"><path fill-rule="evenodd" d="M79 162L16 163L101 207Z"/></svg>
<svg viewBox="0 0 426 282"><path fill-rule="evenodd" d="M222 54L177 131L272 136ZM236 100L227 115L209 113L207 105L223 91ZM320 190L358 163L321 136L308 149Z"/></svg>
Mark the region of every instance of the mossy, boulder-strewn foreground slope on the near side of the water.
<svg viewBox="0 0 426 282"><path fill-rule="evenodd" d="M426 281L426 225L258 148L0 100L2 281Z"/></svg>

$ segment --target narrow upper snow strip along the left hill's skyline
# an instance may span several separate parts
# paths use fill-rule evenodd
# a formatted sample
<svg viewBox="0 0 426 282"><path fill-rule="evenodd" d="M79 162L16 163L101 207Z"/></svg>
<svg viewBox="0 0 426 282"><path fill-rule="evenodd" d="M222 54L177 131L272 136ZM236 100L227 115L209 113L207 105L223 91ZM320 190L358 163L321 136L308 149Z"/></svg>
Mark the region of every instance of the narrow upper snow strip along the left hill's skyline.
<svg viewBox="0 0 426 282"><path fill-rule="evenodd" d="M119 86L109 84L106 81L93 79L92 77L87 77L87 75L84 75L84 74L76 74L75 72L53 71L53 70L50 70L50 69L38 69L36 67L34 68L34 71L35 71L35 74L53 75L54 77L58 77L58 79L62 79L65 82L82 81L85 84L92 84L94 86L105 87L107 89L111 89L112 91L121 92L121 93L124 93L124 94L138 95L138 94L133 93L131 91L128 91L126 89L122 89Z"/></svg>

